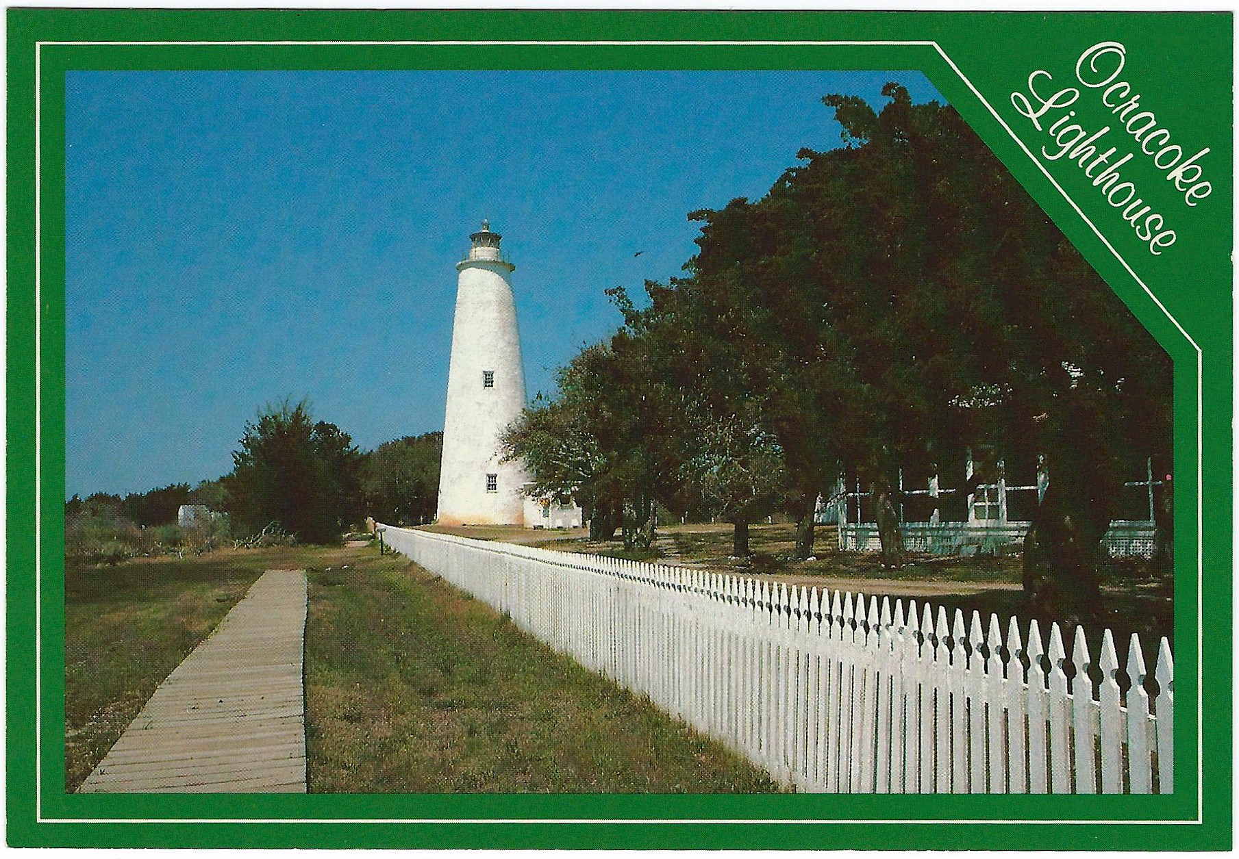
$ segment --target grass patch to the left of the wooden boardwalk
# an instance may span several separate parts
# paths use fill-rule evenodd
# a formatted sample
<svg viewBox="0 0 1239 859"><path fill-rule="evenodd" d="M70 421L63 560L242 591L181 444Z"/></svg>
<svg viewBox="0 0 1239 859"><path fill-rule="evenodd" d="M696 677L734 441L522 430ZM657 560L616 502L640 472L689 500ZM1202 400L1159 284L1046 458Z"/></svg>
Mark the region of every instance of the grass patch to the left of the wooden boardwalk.
<svg viewBox="0 0 1239 859"><path fill-rule="evenodd" d="M264 569L346 550L227 550L64 574L64 787L103 760L142 706Z"/></svg>

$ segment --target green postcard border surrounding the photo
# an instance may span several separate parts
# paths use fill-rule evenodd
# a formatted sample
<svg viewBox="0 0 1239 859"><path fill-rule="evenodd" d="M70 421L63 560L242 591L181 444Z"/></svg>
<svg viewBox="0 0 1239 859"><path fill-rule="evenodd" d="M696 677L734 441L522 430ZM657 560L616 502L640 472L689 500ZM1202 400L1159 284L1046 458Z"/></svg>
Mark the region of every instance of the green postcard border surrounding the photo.
<svg viewBox="0 0 1239 859"><path fill-rule="evenodd" d="M1233 22L1229 15L1061 14L1051 21L1043 15L974 12L31 9L10 10L7 24L6 755L11 844L1106 848L1115 843L1116 829L1121 829L1136 839L1132 843L1145 848L1229 845L1233 349L1229 264ZM1056 45L1047 38L1047 28L1069 45ZM1110 213L1094 205L1097 201L1078 177L1037 158L1033 152L1043 141L1036 139L1030 125L1021 126L1026 120L1010 108L1010 93L1022 89L1023 78L1035 68L1052 67L1056 76L1069 74L1080 48L1113 38L1127 45L1134 80L1139 71L1137 51L1146 52L1146 57L1165 58L1191 46L1191 53L1181 59L1180 74L1198 69L1199 77L1189 79L1203 82L1198 87L1207 90L1206 95L1212 93L1215 105L1203 119L1194 116L1188 123L1183 105L1172 98L1173 80L1157 87L1150 77L1152 83L1144 88L1150 104L1160 98L1158 106L1166 105L1158 116L1170 118L1167 127L1186 129L1207 139L1203 145L1212 146L1218 158L1214 163L1222 163L1225 172L1214 182L1213 199L1208 201L1209 220L1203 220L1199 210L1189 214L1201 217L1183 218L1173 265L1171 260L1149 257L1132 236L1109 224L1105 218ZM346 41L352 43L338 45ZM209 798L66 795L61 516L64 73L169 68L923 71L1175 361L1178 464L1175 491L1181 522L1176 527L1176 793ZM1154 182L1152 176L1136 173L1136 178L1145 184ZM1172 199L1163 204L1167 217L1172 212L1178 217L1172 204ZM36 290L36 283L41 288ZM1184 290L1182 283L1192 288ZM1203 469L1206 460L1208 470ZM1197 516L1197 510L1202 515ZM36 675L42 684L41 707ZM1208 683L1202 683L1204 677ZM209 826L203 826L208 822Z"/></svg>

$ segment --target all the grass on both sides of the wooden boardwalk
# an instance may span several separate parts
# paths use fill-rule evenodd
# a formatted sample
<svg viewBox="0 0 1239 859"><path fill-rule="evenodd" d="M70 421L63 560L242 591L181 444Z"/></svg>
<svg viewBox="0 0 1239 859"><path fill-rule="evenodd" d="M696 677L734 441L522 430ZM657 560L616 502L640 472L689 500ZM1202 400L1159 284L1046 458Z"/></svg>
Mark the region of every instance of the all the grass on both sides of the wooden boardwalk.
<svg viewBox="0 0 1239 859"><path fill-rule="evenodd" d="M758 792L761 771L377 546L66 576L66 790L264 569L305 568L310 790Z"/></svg>

